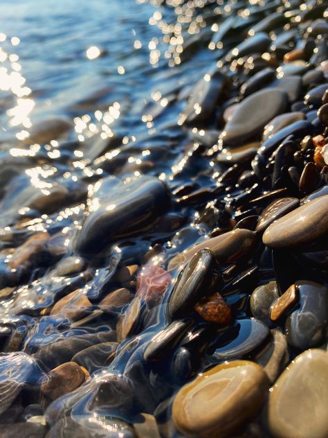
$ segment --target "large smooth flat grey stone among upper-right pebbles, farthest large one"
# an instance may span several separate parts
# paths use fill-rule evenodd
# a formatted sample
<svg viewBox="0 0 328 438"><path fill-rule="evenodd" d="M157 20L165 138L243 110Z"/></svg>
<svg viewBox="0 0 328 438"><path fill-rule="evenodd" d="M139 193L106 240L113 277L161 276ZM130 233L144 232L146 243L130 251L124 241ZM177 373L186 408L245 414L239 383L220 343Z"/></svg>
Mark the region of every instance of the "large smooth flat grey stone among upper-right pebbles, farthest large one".
<svg viewBox="0 0 328 438"><path fill-rule="evenodd" d="M269 121L286 110L287 101L286 93L277 89L257 91L242 100L221 134L224 146L239 146L259 134Z"/></svg>

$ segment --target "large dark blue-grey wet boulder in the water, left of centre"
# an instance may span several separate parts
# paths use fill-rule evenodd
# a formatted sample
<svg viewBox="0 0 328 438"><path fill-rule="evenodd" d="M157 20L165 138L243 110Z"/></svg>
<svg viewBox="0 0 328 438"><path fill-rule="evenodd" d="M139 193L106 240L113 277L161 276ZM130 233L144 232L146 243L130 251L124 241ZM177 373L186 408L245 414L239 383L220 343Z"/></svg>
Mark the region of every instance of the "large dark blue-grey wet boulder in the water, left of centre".
<svg viewBox="0 0 328 438"><path fill-rule="evenodd" d="M91 200L74 242L80 254L98 254L113 240L151 229L169 204L165 184L147 176L126 184L107 177L98 184Z"/></svg>

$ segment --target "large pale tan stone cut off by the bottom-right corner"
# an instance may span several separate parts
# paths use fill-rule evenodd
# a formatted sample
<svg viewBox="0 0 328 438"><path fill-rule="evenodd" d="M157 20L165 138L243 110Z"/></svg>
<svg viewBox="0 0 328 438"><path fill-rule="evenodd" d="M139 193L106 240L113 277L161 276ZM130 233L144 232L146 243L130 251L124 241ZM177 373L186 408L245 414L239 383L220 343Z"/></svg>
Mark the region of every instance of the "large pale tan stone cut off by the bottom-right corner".
<svg viewBox="0 0 328 438"><path fill-rule="evenodd" d="M285 369L268 401L268 426L277 438L328 436L328 353L307 350Z"/></svg>

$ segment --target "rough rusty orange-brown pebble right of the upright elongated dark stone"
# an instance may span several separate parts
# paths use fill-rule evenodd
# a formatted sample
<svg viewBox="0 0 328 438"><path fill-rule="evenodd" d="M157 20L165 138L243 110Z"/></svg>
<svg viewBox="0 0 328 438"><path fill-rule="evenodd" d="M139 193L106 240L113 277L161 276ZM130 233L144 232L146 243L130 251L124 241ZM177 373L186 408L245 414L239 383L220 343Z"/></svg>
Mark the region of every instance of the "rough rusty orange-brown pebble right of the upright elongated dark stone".
<svg viewBox="0 0 328 438"><path fill-rule="evenodd" d="M230 324L231 322L231 309L219 292L202 298L194 306L194 310L208 322L217 324Z"/></svg>

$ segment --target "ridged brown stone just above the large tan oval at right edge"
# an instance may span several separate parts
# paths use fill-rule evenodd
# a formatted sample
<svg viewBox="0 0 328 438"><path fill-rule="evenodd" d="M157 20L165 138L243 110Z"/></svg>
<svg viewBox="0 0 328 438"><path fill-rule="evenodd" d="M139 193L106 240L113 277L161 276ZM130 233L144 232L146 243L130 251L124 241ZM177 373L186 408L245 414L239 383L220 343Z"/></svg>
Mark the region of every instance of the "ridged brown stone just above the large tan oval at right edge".
<svg viewBox="0 0 328 438"><path fill-rule="evenodd" d="M262 231L268 228L275 220L293 211L299 205L300 200L298 200L298 198L280 198L271 202L271 204L262 211L255 231L262 233Z"/></svg>

